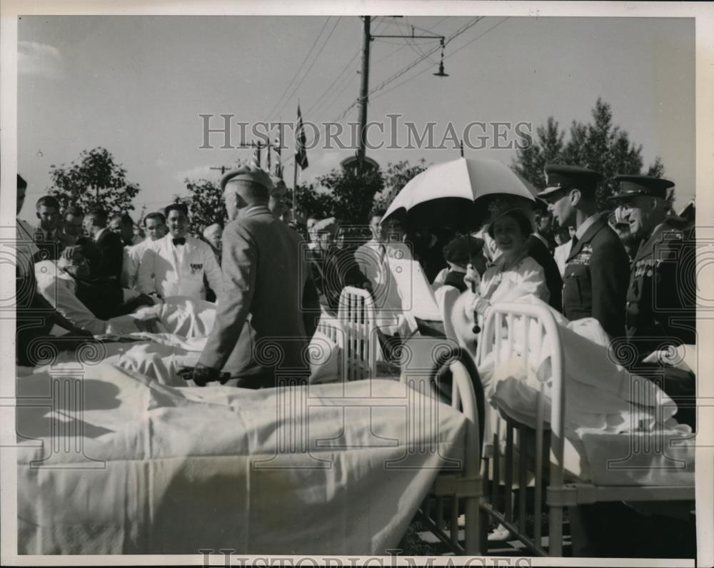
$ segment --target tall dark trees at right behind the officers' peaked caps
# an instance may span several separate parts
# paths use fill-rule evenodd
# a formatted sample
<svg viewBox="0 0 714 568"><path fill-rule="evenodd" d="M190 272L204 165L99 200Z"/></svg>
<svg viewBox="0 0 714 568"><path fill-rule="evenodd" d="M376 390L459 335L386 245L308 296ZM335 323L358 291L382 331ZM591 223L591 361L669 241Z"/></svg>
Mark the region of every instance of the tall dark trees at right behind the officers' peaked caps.
<svg viewBox="0 0 714 568"><path fill-rule="evenodd" d="M642 171L642 145L635 146L627 131L613 125L610 105L601 98L595 102L592 116L593 122L588 124L573 121L567 143L563 143L565 131L560 130L551 116L545 126L536 129L531 145L518 150L513 166L537 188L545 187L546 163L567 163L598 171L605 176L605 183L598 192L598 208L605 210L608 197L616 189L611 182L613 176ZM647 175L661 177L663 173L664 166L658 157L649 166Z"/></svg>

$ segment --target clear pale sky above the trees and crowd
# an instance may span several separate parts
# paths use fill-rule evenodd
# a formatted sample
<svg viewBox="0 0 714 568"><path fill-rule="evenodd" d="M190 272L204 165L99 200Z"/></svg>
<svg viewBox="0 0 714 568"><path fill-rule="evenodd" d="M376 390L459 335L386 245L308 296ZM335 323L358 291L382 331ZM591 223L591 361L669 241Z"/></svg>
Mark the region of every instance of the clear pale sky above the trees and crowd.
<svg viewBox="0 0 714 568"><path fill-rule="evenodd" d="M695 44L693 19L378 17L373 35L449 38L448 77L433 76L438 51L373 93L370 121L401 114L418 132L436 123L437 141L453 124L529 123L553 116L563 128L589 121L598 97L613 121L643 147L644 169L660 156L675 181L675 208L695 193ZM473 24L465 29L468 24ZM107 148L139 183L136 213L155 211L185 193L184 179L218 181L211 166L232 166L248 149L201 149L201 114L233 122L305 121L345 124L358 108L362 23L358 16L22 16L18 29L18 170L29 182L21 218L50 186L50 166L69 165L84 149ZM438 46L434 39L371 42L369 83L376 88ZM478 127L480 128L480 127ZM472 131L476 135L480 130ZM276 131L274 131L276 132ZM513 131L509 131L513 136ZM465 149L467 158L511 164L513 148ZM231 142L240 133L231 128ZM283 156L293 153L288 133ZM475 138L476 136L474 136ZM311 138L311 135L308 136ZM511 139L509 138L509 139ZM383 138L388 141L388 136ZM353 149L308 150L301 181L337 167ZM503 146L503 144L501 144ZM381 148L389 162L438 163L458 149ZM292 162L285 177L292 185ZM138 215L134 215L135 217Z"/></svg>

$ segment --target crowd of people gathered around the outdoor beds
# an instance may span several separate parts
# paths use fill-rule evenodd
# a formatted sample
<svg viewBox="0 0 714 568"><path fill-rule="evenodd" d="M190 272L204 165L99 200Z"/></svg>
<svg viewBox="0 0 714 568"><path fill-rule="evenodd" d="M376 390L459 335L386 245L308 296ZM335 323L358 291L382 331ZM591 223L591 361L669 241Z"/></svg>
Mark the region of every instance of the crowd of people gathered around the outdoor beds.
<svg viewBox="0 0 714 568"><path fill-rule="evenodd" d="M601 212L600 173L550 165L546 174L535 202L498 196L488 203L487 223L461 234L385 219L383 209L358 230L336 218L301 225L283 181L251 165L223 176L228 224L212 223L200 235L188 233L183 203L144 215L139 227L128 213L62 208L43 196L35 227L17 221L17 362L33 364L38 340L61 338L61 348L71 348L106 333L112 318L182 296L216 307L205 348L184 378L199 386L237 378L238 386L271 387L281 367L306 380L306 346L319 318L335 315L343 288L368 290L381 314L419 302L404 297L391 273L390 258L406 253L436 298L438 290L457 290L451 323L476 334L463 345L477 340L491 305L514 298L542 300L570 321L594 318L622 365L658 380L678 404L677 420L694 427L694 372L666 364L663 355L696 343L695 235L691 220L668 214L674 184L617 176L612 211ZM18 214L26 186L18 176ZM38 285L48 262L61 276L51 294ZM444 333L443 322L418 325ZM140 321L136 326L143 330ZM381 334L387 359L393 339ZM595 511L580 523L602 518Z"/></svg>

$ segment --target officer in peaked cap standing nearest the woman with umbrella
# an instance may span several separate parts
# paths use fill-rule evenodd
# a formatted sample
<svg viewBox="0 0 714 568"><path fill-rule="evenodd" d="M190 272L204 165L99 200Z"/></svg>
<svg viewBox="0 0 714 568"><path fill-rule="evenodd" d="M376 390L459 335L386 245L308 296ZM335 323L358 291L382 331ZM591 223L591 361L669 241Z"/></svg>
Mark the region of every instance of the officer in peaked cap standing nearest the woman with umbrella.
<svg viewBox="0 0 714 568"><path fill-rule="evenodd" d="M548 187L538 197L561 227L575 226L563 278L563 315L595 318L610 339L625 334L630 262L618 235L598 213L600 173L578 166L545 166Z"/></svg>

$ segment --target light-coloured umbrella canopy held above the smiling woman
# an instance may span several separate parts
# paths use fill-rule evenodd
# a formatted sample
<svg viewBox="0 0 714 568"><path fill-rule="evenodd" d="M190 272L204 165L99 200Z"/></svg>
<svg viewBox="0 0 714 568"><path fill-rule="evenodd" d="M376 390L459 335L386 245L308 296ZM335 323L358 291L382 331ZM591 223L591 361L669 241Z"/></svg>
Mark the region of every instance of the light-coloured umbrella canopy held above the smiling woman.
<svg viewBox="0 0 714 568"><path fill-rule="evenodd" d="M411 225L477 228L488 215L488 198L517 196L535 203L531 183L497 160L458 158L429 166L398 193L384 218Z"/></svg>

